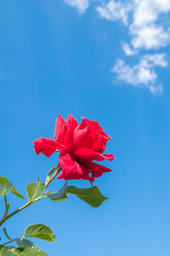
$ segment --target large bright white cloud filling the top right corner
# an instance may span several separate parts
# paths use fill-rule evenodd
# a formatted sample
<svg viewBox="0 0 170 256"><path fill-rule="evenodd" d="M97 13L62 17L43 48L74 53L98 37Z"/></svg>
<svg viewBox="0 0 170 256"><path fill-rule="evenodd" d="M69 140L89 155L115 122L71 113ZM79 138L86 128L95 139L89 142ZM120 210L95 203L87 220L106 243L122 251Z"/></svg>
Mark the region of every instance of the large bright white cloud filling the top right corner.
<svg viewBox="0 0 170 256"><path fill-rule="evenodd" d="M170 0L111 0L97 11L106 20L122 20L125 25L130 20L129 33L135 49L158 49L170 44L170 28L161 22L161 16L170 11Z"/></svg>

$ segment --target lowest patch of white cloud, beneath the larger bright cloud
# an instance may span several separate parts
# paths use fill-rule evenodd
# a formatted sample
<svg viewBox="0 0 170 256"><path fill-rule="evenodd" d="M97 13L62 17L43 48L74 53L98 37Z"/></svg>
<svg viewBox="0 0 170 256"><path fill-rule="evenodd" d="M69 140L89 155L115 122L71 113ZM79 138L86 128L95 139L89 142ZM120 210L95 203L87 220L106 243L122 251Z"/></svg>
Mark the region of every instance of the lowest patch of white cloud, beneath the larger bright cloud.
<svg viewBox="0 0 170 256"><path fill-rule="evenodd" d="M167 61L165 57L165 54L144 55L139 63L132 67L127 65L125 61L118 59L111 71L117 74L117 79L127 84L145 87L154 94L161 94L162 86L156 83L157 75L153 67L166 67Z"/></svg>

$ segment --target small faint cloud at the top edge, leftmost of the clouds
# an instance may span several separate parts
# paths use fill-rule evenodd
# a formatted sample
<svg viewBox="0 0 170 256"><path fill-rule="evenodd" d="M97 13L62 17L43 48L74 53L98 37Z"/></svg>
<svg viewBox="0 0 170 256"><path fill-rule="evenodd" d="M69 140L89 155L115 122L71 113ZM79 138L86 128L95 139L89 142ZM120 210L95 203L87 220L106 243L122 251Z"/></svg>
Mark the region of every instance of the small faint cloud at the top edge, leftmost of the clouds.
<svg viewBox="0 0 170 256"><path fill-rule="evenodd" d="M77 9L79 15L84 14L89 6L88 0L64 0L64 2Z"/></svg>

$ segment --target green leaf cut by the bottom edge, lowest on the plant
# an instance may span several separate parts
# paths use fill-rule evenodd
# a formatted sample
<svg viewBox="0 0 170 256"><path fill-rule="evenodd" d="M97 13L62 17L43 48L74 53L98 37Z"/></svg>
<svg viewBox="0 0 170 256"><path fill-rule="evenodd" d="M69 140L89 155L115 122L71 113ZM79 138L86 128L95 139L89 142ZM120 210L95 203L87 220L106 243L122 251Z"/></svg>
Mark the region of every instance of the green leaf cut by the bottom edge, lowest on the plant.
<svg viewBox="0 0 170 256"><path fill-rule="evenodd" d="M20 256L48 256L37 247L18 247L14 249ZM12 256L12 255L11 255Z"/></svg>

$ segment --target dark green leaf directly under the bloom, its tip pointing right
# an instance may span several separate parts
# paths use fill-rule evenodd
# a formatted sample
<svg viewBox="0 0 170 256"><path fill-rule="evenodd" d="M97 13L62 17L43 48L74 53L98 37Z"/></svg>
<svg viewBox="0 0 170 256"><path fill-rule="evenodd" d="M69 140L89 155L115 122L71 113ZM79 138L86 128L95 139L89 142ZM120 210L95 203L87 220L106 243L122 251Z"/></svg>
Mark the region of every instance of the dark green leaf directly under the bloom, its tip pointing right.
<svg viewBox="0 0 170 256"><path fill-rule="evenodd" d="M67 193L77 195L77 197L88 203L91 207L99 207L103 201L108 199L99 192L99 189L96 186L89 189L78 189L74 186L69 186L67 188Z"/></svg>

